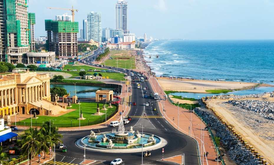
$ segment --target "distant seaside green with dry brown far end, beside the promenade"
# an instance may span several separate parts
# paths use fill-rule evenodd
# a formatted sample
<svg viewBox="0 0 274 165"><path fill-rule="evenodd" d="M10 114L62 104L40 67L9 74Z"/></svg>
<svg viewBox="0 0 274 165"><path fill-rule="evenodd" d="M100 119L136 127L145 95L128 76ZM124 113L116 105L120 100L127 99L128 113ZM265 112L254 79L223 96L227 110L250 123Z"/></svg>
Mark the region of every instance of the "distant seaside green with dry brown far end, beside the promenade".
<svg viewBox="0 0 274 165"><path fill-rule="evenodd" d="M110 57L113 59L105 60L101 64L113 67L121 67L126 69L136 69L135 67L135 58L131 57L129 50L111 50ZM131 65L131 67L130 67Z"/></svg>

